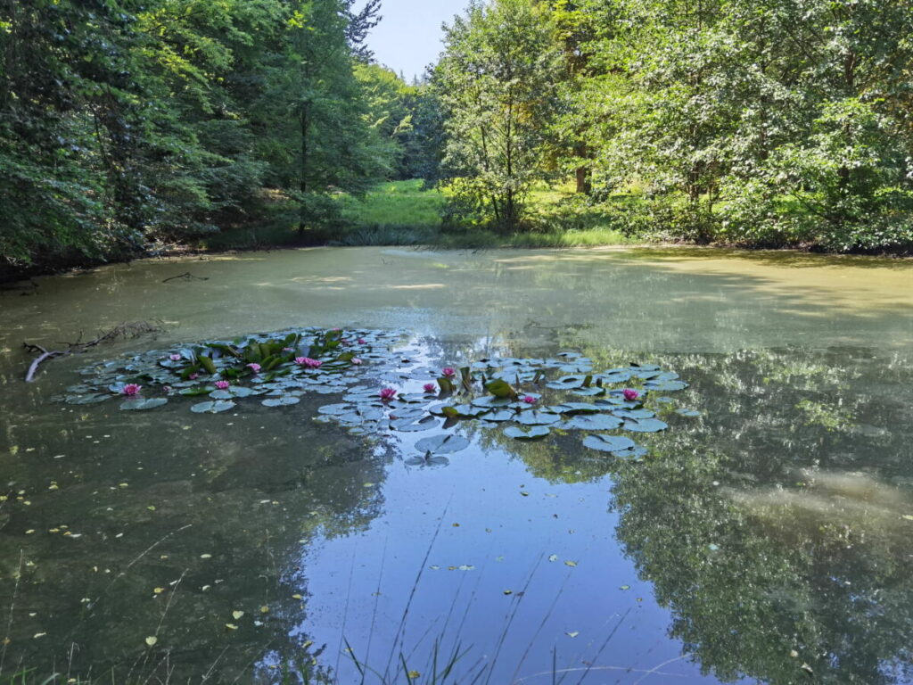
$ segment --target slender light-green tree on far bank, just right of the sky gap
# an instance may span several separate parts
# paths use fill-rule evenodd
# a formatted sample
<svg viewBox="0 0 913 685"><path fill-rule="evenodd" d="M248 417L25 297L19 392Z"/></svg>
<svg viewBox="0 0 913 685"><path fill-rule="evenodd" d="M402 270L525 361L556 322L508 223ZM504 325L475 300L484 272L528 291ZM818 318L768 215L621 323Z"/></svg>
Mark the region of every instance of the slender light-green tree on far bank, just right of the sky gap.
<svg viewBox="0 0 913 685"><path fill-rule="evenodd" d="M559 52L547 16L527 0L473 2L445 27L435 72L446 175L458 202L505 230L544 176Z"/></svg>

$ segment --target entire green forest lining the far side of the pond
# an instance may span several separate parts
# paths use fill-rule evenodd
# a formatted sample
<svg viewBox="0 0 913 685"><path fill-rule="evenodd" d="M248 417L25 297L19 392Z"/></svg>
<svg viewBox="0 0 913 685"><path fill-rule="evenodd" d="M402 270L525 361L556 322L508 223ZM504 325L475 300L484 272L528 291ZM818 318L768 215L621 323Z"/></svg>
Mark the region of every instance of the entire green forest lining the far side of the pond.
<svg viewBox="0 0 913 685"><path fill-rule="evenodd" d="M343 210L391 181L422 188L405 210L436 198L429 242L598 227L913 246L908 0L473 0L412 82L373 58L382 15L380 0L0 0L0 263L164 254L247 227L377 244Z"/></svg>

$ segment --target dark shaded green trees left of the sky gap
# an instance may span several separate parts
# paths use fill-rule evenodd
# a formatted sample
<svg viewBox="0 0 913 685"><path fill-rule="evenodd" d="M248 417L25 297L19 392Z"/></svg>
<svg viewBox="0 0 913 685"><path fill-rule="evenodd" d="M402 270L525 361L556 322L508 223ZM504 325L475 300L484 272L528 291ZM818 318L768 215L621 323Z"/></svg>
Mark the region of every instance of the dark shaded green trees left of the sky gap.
<svg viewBox="0 0 913 685"><path fill-rule="evenodd" d="M422 174L425 89L371 64L379 0L353 3L0 0L2 261L304 232Z"/></svg>

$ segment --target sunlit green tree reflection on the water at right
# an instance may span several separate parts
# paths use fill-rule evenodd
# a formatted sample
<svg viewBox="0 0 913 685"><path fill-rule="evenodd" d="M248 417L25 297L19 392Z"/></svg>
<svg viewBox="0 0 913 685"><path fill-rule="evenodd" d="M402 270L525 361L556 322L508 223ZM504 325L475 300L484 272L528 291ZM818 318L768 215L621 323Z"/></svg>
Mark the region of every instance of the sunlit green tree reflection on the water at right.
<svg viewBox="0 0 913 685"><path fill-rule="evenodd" d="M597 366L620 353L584 351ZM609 474L616 531L670 634L721 680L895 683L913 676L913 372L865 351L654 356L692 384L643 462L578 437L501 443L541 478Z"/></svg>

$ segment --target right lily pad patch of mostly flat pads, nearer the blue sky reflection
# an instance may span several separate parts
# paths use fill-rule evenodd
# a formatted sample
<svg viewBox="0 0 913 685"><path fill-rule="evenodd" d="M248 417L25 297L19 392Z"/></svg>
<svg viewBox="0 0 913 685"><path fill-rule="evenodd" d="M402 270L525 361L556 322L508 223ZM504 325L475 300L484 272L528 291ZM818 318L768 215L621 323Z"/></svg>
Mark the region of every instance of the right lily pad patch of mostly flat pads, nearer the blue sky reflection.
<svg viewBox="0 0 913 685"><path fill-rule="evenodd" d="M505 427L505 436L519 440L579 430L587 433L582 440L584 447L615 457L641 458L645 448L630 437L605 431L665 430L666 422L645 404L652 395L687 387L678 374L655 364L631 364L596 373L590 359L572 352L551 359L482 359L460 368L458 376L450 367L437 375L436 383L425 384L421 393L398 393L394 388L383 388L379 393L363 385L349 390L341 402L321 406L318 411L323 420L350 427L356 433L446 429L460 421ZM420 381L423 374L420 370L408 377ZM656 396L656 404L671 402L665 395ZM689 409L677 413L698 416ZM418 440L415 448L425 458L433 458L468 445L466 437L450 432Z"/></svg>

